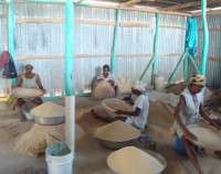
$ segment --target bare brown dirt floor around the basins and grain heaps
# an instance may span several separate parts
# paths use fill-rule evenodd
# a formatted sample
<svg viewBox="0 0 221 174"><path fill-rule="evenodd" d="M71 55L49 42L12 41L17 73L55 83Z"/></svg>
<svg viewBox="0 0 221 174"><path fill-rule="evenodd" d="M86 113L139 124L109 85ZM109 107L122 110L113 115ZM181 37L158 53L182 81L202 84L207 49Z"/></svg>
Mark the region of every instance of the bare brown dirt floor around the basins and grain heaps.
<svg viewBox="0 0 221 174"><path fill-rule="evenodd" d="M60 101L63 104L63 101ZM106 124L95 119L88 111L99 101L87 98L77 98L76 122L83 128L78 131L75 153L75 174L113 174L106 164L112 150L103 148L94 139L96 128ZM173 150L173 137L170 131L172 124L171 112L159 101L150 104L149 127L145 134L150 134L157 142L156 151L167 160L164 174L197 174L186 156L180 156ZM0 115L0 174L46 174L44 156L40 159L18 154L13 151L19 137L27 132L33 122L20 122L19 117L7 113ZM221 160L210 155L199 155L200 165L204 174L220 174Z"/></svg>

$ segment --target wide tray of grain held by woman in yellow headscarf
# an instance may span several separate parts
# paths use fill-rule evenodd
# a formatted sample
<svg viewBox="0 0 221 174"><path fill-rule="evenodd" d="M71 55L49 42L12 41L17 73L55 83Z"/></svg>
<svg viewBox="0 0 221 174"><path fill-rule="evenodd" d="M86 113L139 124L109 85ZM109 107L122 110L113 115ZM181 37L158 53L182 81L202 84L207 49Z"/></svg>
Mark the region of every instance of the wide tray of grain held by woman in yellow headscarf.
<svg viewBox="0 0 221 174"><path fill-rule="evenodd" d="M203 126L189 126L189 131L197 137L197 141L193 141L197 145L221 151L221 131L214 130Z"/></svg>

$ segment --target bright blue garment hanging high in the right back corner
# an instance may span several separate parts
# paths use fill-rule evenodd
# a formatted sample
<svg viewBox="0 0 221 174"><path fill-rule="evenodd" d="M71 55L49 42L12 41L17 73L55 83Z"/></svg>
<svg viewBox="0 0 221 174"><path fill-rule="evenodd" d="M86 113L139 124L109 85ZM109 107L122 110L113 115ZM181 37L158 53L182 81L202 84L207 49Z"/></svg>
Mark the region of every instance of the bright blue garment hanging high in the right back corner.
<svg viewBox="0 0 221 174"><path fill-rule="evenodd" d="M196 18L187 19L186 50L192 57L197 56L198 50L198 23Z"/></svg>

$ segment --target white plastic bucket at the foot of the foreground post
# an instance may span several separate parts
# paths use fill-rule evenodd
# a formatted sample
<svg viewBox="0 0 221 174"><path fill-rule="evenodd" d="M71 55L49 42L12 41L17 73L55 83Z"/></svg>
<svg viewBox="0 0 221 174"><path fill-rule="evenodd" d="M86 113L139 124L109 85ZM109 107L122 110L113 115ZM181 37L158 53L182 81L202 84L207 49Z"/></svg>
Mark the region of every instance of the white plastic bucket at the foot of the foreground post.
<svg viewBox="0 0 221 174"><path fill-rule="evenodd" d="M46 164L49 174L72 174L73 152L62 155L54 156L49 153L46 149Z"/></svg>

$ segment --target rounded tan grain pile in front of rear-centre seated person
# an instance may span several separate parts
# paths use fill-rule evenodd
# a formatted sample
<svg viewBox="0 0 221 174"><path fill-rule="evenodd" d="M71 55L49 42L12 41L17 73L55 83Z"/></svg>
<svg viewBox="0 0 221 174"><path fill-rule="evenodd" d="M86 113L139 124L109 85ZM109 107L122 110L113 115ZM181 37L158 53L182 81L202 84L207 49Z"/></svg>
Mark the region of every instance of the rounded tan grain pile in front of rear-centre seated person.
<svg viewBox="0 0 221 174"><path fill-rule="evenodd" d="M115 96L115 90L107 81L102 80L94 88L93 96L96 99L112 98Z"/></svg>

